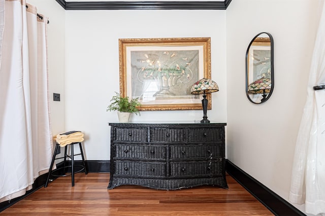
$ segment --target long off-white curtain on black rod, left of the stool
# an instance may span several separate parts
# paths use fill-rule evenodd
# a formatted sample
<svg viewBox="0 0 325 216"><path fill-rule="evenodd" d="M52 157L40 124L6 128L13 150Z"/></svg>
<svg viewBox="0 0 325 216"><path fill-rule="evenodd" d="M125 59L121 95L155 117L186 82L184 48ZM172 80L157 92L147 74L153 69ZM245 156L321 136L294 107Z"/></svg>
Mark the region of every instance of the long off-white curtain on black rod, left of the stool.
<svg viewBox="0 0 325 216"><path fill-rule="evenodd" d="M27 9L26 9L27 5ZM49 169L52 134L47 17L24 0L0 2L0 202L30 190Z"/></svg>

